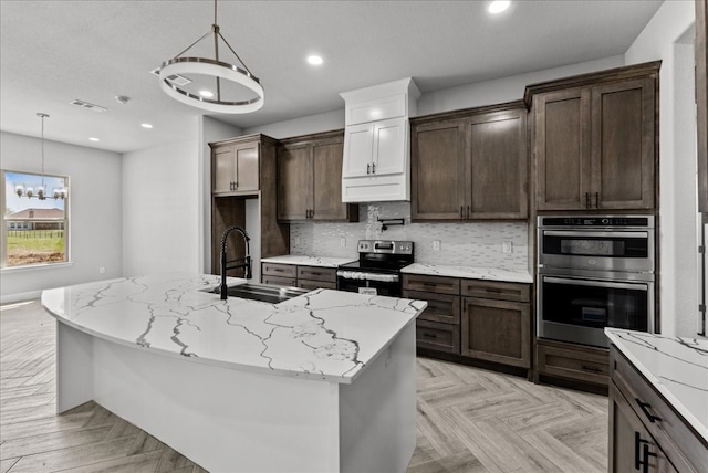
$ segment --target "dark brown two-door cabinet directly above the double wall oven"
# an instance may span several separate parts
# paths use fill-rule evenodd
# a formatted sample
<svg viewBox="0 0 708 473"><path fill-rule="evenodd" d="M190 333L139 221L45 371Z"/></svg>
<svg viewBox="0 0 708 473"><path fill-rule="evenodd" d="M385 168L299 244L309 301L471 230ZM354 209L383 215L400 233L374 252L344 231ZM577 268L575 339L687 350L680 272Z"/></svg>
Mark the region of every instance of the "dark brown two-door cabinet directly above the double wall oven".
<svg viewBox="0 0 708 473"><path fill-rule="evenodd" d="M652 210L659 62L527 87L537 210Z"/></svg>

